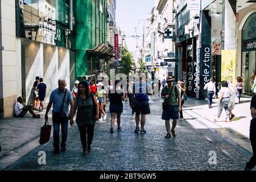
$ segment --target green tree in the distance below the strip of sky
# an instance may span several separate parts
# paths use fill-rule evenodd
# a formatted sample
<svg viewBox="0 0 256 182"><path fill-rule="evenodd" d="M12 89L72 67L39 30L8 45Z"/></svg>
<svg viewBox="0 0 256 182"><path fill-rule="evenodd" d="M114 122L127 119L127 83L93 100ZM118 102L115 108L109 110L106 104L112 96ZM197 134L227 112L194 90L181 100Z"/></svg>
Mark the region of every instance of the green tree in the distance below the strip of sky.
<svg viewBox="0 0 256 182"><path fill-rule="evenodd" d="M127 47L122 46L122 61L120 65L119 73L129 75L135 67L135 61L133 60L133 54L128 51Z"/></svg>

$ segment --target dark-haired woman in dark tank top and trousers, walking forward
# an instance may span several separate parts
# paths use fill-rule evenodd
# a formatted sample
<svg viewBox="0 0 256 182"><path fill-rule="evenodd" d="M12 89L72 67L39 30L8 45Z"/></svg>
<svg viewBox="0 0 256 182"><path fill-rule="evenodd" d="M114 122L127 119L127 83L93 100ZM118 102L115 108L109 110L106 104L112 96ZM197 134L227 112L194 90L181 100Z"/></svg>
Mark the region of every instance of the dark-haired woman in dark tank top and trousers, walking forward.
<svg viewBox="0 0 256 182"><path fill-rule="evenodd" d="M76 123L79 127L80 139L82 143L82 155L92 150L92 140L94 135L94 126L98 119L98 102L95 95L89 93L89 86L85 81L79 83L79 92L74 102L74 112L71 115L71 125L73 125L74 113L76 114Z"/></svg>

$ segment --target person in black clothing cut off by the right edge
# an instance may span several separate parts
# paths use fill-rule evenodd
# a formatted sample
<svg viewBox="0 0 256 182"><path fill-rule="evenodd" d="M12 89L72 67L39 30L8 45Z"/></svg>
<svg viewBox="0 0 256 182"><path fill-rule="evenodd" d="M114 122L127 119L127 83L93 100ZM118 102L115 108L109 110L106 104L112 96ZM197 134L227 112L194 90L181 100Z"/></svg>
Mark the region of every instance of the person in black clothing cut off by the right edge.
<svg viewBox="0 0 256 182"><path fill-rule="evenodd" d="M253 156L246 163L245 171L251 171L256 166L256 95L251 99L251 123L250 123L250 141L253 148Z"/></svg>

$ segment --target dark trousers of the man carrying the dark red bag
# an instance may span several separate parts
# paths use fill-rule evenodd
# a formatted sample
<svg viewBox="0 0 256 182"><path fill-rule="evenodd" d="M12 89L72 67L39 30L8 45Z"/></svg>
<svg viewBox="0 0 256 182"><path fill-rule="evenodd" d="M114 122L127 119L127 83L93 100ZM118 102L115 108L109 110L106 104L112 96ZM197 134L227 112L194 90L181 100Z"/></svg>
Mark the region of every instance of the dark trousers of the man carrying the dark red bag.
<svg viewBox="0 0 256 182"><path fill-rule="evenodd" d="M61 147L66 146L68 137L68 117L63 117L61 122L56 122L54 119L54 114L52 115L53 123L53 147L55 150L60 150ZM61 143L60 143L60 125L61 125Z"/></svg>

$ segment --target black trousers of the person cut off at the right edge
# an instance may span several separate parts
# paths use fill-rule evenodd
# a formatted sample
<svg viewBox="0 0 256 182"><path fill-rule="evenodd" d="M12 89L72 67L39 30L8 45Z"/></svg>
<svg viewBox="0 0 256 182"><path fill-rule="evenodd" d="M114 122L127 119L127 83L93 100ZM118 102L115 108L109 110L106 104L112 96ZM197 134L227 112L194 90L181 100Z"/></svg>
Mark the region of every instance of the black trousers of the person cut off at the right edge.
<svg viewBox="0 0 256 182"><path fill-rule="evenodd" d="M253 156L251 157L250 161L247 162L247 167L252 169L256 166L256 119L251 120L250 141L251 147L253 148Z"/></svg>

